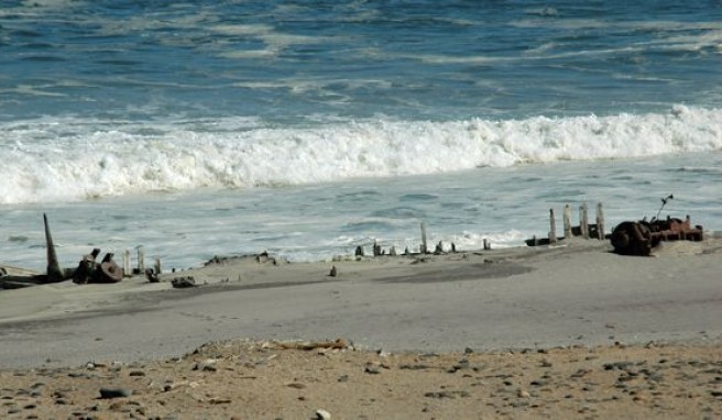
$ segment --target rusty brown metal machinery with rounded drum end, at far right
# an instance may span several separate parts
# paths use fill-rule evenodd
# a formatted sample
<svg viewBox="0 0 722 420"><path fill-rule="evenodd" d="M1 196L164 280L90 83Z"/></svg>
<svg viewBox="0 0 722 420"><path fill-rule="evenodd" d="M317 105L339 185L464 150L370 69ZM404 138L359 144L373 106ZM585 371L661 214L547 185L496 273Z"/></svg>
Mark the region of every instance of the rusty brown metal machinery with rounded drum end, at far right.
<svg viewBox="0 0 722 420"><path fill-rule="evenodd" d="M647 256L663 241L702 241L701 225L692 228L689 215L685 219L667 218L647 222L622 222L612 231L614 252L623 255Z"/></svg>

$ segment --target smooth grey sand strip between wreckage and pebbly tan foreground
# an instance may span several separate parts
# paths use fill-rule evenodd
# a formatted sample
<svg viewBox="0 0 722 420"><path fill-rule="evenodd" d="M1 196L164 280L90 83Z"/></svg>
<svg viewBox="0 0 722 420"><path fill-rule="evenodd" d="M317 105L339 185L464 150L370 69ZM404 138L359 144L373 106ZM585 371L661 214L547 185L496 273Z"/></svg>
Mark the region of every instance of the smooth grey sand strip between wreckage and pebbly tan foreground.
<svg viewBox="0 0 722 420"><path fill-rule="evenodd" d="M147 336L156 330L168 333L176 352L214 340L332 335L368 349L445 352L467 345L496 351L616 341L720 343L722 328L713 320L722 319L719 254L722 240L712 237L665 243L656 257L620 256L606 241L571 240L551 247L319 263L263 254L218 258L162 274L160 283L135 276L112 285L63 281L0 292L4 335L42 345L44 332L74 333L78 322L97 335L83 349L59 346L53 357L43 350L23 355L21 346L9 345L0 361L32 366L47 358L73 364L173 355ZM197 287L174 289L171 281L184 277ZM188 321L188 333L174 319ZM108 328L124 331L127 340ZM397 328L404 333L394 333Z"/></svg>

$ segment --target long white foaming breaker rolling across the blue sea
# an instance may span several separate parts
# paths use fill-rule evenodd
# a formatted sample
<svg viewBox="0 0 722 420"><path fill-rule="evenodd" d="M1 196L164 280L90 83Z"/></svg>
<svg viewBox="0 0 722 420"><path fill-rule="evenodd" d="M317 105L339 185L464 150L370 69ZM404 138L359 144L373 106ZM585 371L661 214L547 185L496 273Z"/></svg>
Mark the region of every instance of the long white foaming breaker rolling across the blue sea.
<svg viewBox="0 0 722 420"><path fill-rule="evenodd" d="M330 183L722 148L722 110L315 123L46 118L0 124L0 203Z"/></svg>

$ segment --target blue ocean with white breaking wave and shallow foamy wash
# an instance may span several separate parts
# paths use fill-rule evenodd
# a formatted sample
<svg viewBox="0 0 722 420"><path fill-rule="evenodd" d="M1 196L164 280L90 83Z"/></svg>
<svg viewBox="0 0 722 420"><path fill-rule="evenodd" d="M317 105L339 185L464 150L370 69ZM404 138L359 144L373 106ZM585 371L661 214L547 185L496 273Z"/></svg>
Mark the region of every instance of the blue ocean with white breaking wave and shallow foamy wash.
<svg viewBox="0 0 722 420"><path fill-rule="evenodd" d="M0 69L4 264L722 229L716 0L1 0Z"/></svg>

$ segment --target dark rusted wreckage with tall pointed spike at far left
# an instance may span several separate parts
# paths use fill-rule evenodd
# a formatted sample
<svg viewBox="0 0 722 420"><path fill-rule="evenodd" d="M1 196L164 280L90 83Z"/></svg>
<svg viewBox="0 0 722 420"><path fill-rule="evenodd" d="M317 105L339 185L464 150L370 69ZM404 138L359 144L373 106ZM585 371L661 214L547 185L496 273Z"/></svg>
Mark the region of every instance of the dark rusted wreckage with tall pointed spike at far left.
<svg viewBox="0 0 722 420"><path fill-rule="evenodd" d="M124 272L112 259L113 254L108 253L98 263L99 248L83 257L77 268L61 268L55 253L55 245L47 224L47 215L43 214L45 224L45 244L47 248L47 268L45 274L29 274L26 270L13 273L0 267L0 288L17 289L22 287L45 285L73 279L76 284L87 283L118 283L123 279Z"/></svg>

